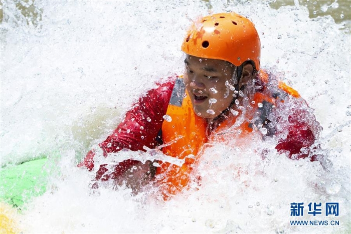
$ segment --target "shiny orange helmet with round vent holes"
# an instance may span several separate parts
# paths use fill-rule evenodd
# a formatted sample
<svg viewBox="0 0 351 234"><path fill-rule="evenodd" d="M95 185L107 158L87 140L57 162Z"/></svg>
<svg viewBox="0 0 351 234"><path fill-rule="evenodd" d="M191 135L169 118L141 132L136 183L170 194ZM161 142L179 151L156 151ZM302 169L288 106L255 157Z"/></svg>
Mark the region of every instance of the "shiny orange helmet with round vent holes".
<svg viewBox="0 0 351 234"><path fill-rule="evenodd" d="M254 24L235 13L206 16L194 22L182 51L196 57L220 59L239 67L253 61L260 69L261 42Z"/></svg>

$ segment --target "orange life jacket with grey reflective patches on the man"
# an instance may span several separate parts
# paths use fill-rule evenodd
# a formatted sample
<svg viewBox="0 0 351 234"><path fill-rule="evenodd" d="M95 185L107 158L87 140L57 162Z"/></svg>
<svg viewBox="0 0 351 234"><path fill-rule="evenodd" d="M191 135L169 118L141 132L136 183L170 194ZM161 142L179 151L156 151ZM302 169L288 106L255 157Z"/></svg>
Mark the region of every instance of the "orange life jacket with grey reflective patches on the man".
<svg viewBox="0 0 351 234"><path fill-rule="evenodd" d="M271 111L278 100L278 95L273 97L272 93L264 90L264 86L269 82L269 75L264 71L260 71L259 79L263 83L263 91L256 92L252 100L249 100L250 103L255 103L255 105L252 105L252 109L246 111L245 120L236 127L241 132L241 137L252 132L253 123L248 120L254 120L255 115L259 115L260 121L264 125L265 118L269 114L267 112ZM278 83L278 89L284 94L290 94L296 98L299 97L295 90L283 82ZM259 103L262 105L258 105ZM228 119L221 122L208 135L207 119L195 114L183 78L177 79L166 112L166 115L170 118L168 117L168 121L165 120L162 124L162 151L165 155L185 159L185 163L182 166L177 166L168 162L161 162L160 166L157 167L156 175L161 175L159 182L162 184L162 193L165 199L188 185L190 173L195 165L194 162L200 158L203 145L209 139L222 140L225 134L221 133L236 123L237 117L241 115L241 111L238 110L238 112L236 116L230 114ZM226 134L226 137L228 137L228 134Z"/></svg>

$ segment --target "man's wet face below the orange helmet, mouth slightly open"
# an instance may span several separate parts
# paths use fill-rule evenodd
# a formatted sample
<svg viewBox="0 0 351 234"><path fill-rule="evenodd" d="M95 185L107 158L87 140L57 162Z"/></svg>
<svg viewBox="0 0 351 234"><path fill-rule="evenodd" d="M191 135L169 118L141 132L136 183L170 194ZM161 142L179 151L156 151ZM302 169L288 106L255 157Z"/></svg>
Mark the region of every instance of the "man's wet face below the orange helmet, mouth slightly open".
<svg viewBox="0 0 351 234"><path fill-rule="evenodd" d="M202 118L215 118L233 100L235 67L224 60L187 55L185 85L195 113Z"/></svg>

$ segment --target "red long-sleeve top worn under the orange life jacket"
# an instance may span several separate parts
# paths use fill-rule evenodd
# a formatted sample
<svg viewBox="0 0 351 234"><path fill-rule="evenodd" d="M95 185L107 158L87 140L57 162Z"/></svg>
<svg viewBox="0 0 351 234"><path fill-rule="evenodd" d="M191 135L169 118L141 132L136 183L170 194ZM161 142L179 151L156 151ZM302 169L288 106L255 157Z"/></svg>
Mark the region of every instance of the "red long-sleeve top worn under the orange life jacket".
<svg viewBox="0 0 351 234"><path fill-rule="evenodd" d="M126 113L124 120L118 125L113 133L105 141L99 144L104 152L115 153L121 149L130 149L132 151L143 150L143 146L154 148L157 145L157 138L162 127L163 115L166 114L169 99L173 90L174 79L170 79L163 84L157 84L157 87L151 89L147 94L139 98L132 108ZM291 110L288 117L288 125L283 129L288 131L286 139L281 139L275 147L278 151L289 151L290 158L298 154L298 158L305 158L308 153L301 153L302 147L310 147L315 136L310 128L310 124L303 118L303 110ZM315 119L314 119L315 121ZM93 151L89 151L84 160L78 166L86 166L89 170L94 168ZM315 160L315 158L311 158ZM122 175L127 169L138 163L135 160L125 160L120 162L112 174L104 175L107 169L105 165L100 165L96 179L107 180L111 177Z"/></svg>

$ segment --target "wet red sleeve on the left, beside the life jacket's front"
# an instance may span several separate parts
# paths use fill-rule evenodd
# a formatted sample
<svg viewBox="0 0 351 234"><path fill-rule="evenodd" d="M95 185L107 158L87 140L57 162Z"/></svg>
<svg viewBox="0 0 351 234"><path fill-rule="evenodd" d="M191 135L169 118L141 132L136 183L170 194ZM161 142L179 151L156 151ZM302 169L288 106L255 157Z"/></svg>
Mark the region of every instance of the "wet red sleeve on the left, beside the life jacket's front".
<svg viewBox="0 0 351 234"><path fill-rule="evenodd" d="M166 114L173 86L174 80L158 84L157 88L149 90L144 97L139 98L113 133L99 144L105 157L108 153L115 153L121 149L137 151L143 150L144 145L148 148L154 148L157 145L156 137L162 127L163 115ZM84 165L92 170L94 155L93 151L89 151L78 166ZM137 161L131 159L120 162L113 176L123 174L136 163ZM106 164L100 166L96 179L100 179L107 171L104 166Z"/></svg>

